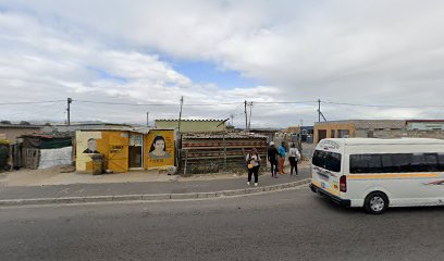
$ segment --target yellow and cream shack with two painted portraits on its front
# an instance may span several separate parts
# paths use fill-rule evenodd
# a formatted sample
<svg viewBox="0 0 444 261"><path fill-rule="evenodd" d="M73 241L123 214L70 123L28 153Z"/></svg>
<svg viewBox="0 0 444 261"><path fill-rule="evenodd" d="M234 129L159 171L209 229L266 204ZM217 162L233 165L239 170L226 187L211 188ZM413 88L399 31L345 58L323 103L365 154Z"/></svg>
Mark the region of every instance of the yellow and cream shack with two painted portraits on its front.
<svg viewBox="0 0 444 261"><path fill-rule="evenodd" d="M92 158L103 156L103 169L113 173L166 169L175 162L174 129L84 129L75 133L78 173L92 173Z"/></svg>

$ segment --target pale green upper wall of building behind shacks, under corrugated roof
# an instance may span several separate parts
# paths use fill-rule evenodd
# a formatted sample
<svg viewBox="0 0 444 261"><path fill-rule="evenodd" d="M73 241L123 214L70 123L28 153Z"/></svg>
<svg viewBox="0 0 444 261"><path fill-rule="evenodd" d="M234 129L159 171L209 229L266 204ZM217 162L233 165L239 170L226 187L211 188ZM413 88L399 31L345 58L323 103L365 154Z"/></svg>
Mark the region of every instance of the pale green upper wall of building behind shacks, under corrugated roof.
<svg viewBox="0 0 444 261"><path fill-rule="evenodd" d="M221 124L221 123L222 123L221 121L182 121L181 122L181 133L223 132L225 123L224 124ZM178 122L177 121L156 120L156 127L157 128L178 128Z"/></svg>

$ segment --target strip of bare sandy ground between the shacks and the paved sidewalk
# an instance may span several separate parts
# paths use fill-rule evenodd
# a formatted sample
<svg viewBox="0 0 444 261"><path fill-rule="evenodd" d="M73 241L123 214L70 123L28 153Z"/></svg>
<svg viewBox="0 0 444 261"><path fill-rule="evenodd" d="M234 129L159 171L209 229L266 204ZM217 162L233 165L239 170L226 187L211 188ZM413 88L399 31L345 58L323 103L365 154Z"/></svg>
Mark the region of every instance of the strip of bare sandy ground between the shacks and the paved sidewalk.
<svg viewBox="0 0 444 261"><path fill-rule="evenodd" d="M288 167L288 166L287 166ZM299 167L308 167L304 161ZM268 169L268 166L267 166ZM264 172L268 170L263 170ZM288 171L289 172L289 171ZM287 173L288 173L287 172ZM246 173L195 174L189 177L168 175L158 171L128 172L103 175L61 173L59 166L45 170L20 170L0 173L0 187L48 186L69 184L139 183L139 182L194 182L226 178L243 178Z"/></svg>

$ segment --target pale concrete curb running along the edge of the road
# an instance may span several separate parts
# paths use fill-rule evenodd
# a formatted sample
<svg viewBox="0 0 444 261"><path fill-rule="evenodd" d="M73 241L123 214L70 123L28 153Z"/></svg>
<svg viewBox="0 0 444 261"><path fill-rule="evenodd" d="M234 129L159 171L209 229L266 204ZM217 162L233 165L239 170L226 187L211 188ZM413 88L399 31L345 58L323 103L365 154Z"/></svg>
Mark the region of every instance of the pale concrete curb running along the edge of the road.
<svg viewBox="0 0 444 261"><path fill-rule="evenodd" d="M214 192L189 192L189 194L152 194L152 195L115 195L115 196L88 196L88 197L64 197L64 198L36 198L36 199L4 199L0 200L0 207L33 206L33 204L70 204L70 203L94 203L94 202L121 202L121 201L158 201L173 199L202 199L235 197L242 195L254 195L282 190L309 184L310 178L284 183L266 187L252 187L235 190L222 190Z"/></svg>

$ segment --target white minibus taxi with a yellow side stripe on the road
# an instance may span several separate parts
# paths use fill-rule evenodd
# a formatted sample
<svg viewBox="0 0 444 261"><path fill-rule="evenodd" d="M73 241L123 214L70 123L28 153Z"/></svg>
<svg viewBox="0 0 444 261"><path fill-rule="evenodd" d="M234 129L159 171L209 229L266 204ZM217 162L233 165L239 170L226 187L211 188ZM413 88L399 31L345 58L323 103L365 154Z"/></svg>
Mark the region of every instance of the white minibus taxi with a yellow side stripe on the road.
<svg viewBox="0 0 444 261"><path fill-rule="evenodd" d="M444 140L323 139L313 152L310 188L371 214L444 206Z"/></svg>

